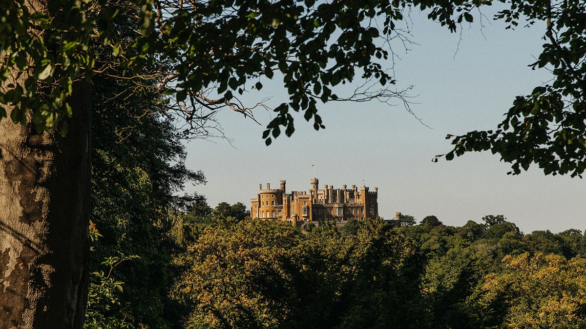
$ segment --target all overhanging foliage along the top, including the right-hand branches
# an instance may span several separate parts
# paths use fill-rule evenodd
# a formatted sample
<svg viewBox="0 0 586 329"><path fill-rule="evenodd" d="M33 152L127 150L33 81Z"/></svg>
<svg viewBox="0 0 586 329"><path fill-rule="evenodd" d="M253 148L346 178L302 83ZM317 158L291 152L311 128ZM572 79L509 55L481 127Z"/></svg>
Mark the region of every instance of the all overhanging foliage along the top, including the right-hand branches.
<svg viewBox="0 0 586 329"><path fill-rule="evenodd" d="M35 11L24 0L5 0L5 12L0 13L0 81L4 85L0 102L13 106L15 122L24 123L26 112L32 109L38 131L60 128L66 132L73 81L89 80L105 70L87 52L91 40L97 38L122 59L118 73L109 73L114 76L134 72L141 78L139 68L154 60L169 65L168 71L159 73L159 87L175 95L168 106L186 119L186 135L208 135L209 121L224 107L253 116L253 108L265 105L241 104L237 95L260 90L263 79L280 79L274 77L278 71L289 100L272 109L275 117L263 133L268 145L281 135L281 129L287 136L294 132L294 111L303 112L315 129L321 129L319 102L401 97L401 91L387 87L394 77L386 70L385 60L393 52L386 41L405 37L396 26L409 10L419 8L454 32L462 22L472 22L473 8L491 4L478 0L137 0L132 6L139 19L132 29L139 33L133 42L124 43L115 16L127 2L50 1L46 11ZM545 26L543 52L531 65L551 70L554 79L529 95L517 96L496 130L456 136L454 149L445 158L490 150L512 163L513 174L534 163L546 174L581 175L586 167L582 24L586 5L577 0L506 4L495 19L505 20L509 28ZM11 76L14 72L16 76ZM25 72L32 74L24 77ZM336 94L336 85L357 78L372 79L379 88ZM6 115L0 110L0 118Z"/></svg>

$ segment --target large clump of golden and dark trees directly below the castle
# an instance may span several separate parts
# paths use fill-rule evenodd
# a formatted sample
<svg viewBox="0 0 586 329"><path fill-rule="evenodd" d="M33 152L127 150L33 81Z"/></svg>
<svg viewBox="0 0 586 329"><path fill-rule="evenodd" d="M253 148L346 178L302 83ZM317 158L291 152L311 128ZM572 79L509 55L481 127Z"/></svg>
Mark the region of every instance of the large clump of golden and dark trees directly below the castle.
<svg viewBox="0 0 586 329"><path fill-rule="evenodd" d="M206 229L178 259L189 270L173 294L192 307L188 327L415 327L423 256L381 220L347 237L287 222ZM316 232L317 231L317 232Z"/></svg>

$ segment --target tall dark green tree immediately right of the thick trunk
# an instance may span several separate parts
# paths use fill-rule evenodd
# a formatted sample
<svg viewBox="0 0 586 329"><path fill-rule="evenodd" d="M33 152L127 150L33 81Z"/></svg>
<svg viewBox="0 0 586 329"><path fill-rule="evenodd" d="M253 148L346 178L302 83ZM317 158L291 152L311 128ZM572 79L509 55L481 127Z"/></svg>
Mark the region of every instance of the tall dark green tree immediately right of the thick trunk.
<svg viewBox="0 0 586 329"><path fill-rule="evenodd" d="M117 24L131 26L135 22L130 8L119 8ZM135 32L129 29L120 29L120 34L121 42L134 40ZM137 328L166 328L173 321L166 291L173 285L175 273L169 263L177 248L169 237L169 220L175 209L196 202L197 196L178 196L184 185L204 183L205 179L201 172L186 169L182 134L168 115L165 96L156 87L159 80L113 77L121 59L101 44L93 44L90 50L96 53L98 63L105 65L105 71L93 78L90 220L102 238L91 244L89 272L103 271L104 259L136 257L104 276L124 282L118 296L120 306L106 311L107 304L94 300L88 305L91 318L86 322L108 327L111 323L104 321L118 317ZM141 74L149 76L159 70L165 66L155 61L143 67ZM96 287L100 285L91 285L90 293ZM96 323L100 317L104 321Z"/></svg>

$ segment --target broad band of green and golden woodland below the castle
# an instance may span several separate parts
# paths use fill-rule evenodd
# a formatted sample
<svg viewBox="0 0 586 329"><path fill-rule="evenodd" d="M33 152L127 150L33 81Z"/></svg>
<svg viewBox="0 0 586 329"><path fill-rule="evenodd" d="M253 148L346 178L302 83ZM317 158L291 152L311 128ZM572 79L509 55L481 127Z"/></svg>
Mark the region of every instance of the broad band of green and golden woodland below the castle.
<svg viewBox="0 0 586 329"><path fill-rule="evenodd" d="M523 234L502 215L393 228L224 221L176 258L185 327L584 328L581 231Z"/></svg>

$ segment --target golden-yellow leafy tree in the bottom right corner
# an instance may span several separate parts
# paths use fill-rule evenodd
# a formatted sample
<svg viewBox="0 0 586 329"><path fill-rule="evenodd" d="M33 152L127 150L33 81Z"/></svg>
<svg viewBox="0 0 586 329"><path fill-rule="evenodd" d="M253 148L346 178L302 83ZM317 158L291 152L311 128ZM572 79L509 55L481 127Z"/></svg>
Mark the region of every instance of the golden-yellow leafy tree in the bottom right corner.
<svg viewBox="0 0 586 329"><path fill-rule="evenodd" d="M563 256L507 256L506 270L486 278L478 303L486 327L582 328L586 264Z"/></svg>

